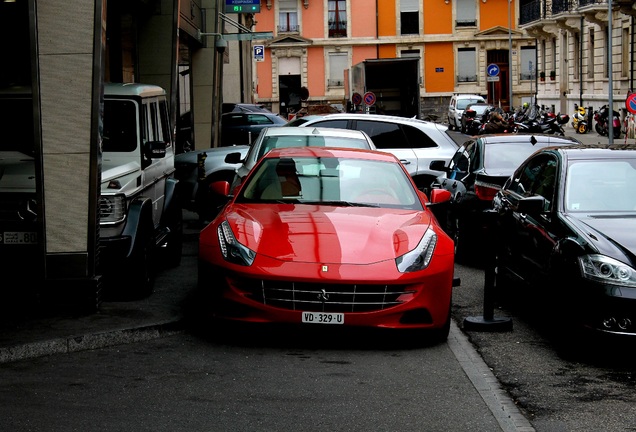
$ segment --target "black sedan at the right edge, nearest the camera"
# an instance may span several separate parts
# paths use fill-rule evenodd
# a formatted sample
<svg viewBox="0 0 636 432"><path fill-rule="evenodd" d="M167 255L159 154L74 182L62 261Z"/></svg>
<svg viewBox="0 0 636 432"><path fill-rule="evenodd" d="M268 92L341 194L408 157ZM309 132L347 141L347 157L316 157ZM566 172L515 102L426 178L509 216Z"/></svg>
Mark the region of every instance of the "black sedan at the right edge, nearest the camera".
<svg viewBox="0 0 636 432"><path fill-rule="evenodd" d="M634 144L532 155L493 200L498 292L524 292L552 329L636 336L635 187Z"/></svg>

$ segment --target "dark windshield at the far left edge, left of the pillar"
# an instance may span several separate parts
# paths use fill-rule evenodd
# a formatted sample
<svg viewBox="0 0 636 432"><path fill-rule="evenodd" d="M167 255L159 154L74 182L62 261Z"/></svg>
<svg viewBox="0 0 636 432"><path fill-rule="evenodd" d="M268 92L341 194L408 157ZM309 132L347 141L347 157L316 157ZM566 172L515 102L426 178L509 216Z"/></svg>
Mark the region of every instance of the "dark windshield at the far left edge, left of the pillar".
<svg viewBox="0 0 636 432"><path fill-rule="evenodd" d="M35 152L33 103L30 97L0 98L0 151Z"/></svg>

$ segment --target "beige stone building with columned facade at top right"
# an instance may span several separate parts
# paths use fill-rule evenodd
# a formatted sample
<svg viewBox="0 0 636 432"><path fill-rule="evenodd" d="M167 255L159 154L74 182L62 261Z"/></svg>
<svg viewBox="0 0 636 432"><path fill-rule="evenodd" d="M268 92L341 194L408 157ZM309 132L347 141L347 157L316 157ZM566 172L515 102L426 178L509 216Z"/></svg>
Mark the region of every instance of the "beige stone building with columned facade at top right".
<svg viewBox="0 0 636 432"><path fill-rule="evenodd" d="M598 109L611 95L625 118L635 16L631 0L521 0L519 27L537 39L538 102L573 113L574 104Z"/></svg>

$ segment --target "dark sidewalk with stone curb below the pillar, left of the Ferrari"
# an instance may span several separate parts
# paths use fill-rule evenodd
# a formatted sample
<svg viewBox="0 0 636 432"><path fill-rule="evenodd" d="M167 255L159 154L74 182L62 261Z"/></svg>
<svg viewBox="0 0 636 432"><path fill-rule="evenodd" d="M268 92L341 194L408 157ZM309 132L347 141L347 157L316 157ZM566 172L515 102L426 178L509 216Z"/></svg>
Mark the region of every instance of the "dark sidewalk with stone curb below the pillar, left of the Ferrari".
<svg viewBox="0 0 636 432"><path fill-rule="evenodd" d="M3 299L0 306L0 364L56 353L94 349L161 337L182 330L183 310L196 287L199 227L184 212L181 265L157 275L155 292L138 301L103 301L92 314L42 304L34 298ZM9 303L9 304L7 304Z"/></svg>

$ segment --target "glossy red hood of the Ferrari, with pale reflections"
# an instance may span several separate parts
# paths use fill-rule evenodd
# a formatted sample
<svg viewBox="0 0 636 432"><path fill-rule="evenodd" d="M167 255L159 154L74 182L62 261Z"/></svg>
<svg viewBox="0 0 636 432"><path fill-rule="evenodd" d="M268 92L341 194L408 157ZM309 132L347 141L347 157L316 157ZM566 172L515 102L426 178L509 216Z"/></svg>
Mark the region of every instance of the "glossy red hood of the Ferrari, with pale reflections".
<svg viewBox="0 0 636 432"><path fill-rule="evenodd" d="M424 211L315 205L234 205L238 241L283 261L368 264L414 249L431 223Z"/></svg>

